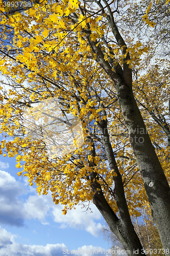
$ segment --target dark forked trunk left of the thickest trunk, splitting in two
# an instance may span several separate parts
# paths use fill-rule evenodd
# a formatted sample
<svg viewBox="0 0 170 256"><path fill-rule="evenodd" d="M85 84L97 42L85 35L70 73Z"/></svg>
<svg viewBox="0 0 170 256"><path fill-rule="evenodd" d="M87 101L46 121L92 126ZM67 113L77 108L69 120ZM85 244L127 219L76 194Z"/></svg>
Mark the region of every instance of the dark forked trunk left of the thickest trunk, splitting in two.
<svg viewBox="0 0 170 256"><path fill-rule="evenodd" d="M90 175L91 187L94 192L93 203L101 212L110 230L115 234L120 243L122 243L124 249L127 250L127 254L143 255L143 247L134 230L130 218L122 177L119 173L109 139L107 120L103 120L102 125L100 124L100 126L103 133L102 143L105 147L110 169L114 169L114 172L116 173L116 176L114 176L114 198L118 207L119 218L107 203L102 191L102 187L100 183L98 183L98 174L95 172L92 172ZM93 157L95 156L94 145L93 151L91 151L89 154ZM89 162L89 166L95 166L95 164L93 162Z"/></svg>

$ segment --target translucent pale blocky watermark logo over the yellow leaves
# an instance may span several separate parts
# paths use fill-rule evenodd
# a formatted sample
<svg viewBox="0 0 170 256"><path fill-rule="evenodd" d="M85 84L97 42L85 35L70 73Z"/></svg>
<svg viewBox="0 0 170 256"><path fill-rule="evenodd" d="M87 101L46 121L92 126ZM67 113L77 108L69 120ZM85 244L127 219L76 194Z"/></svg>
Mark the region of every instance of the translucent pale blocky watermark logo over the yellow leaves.
<svg viewBox="0 0 170 256"><path fill-rule="evenodd" d="M43 141L52 158L75 151L84 143L80 118L67 114L57 98L33 104L23 115L23 125L26 136Z"/></svg>

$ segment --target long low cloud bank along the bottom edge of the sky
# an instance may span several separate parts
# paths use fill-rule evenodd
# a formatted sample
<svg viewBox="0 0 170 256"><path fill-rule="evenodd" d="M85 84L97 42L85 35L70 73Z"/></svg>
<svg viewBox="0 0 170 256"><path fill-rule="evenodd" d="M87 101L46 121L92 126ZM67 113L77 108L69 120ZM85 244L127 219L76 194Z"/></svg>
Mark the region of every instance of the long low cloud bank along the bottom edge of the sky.
<svg viewBox="0 0 170 256"><path fill-rule="evenodd" d="M72 253L71 253L72 252ZM43 245L25 245L15 242L15 236L0 227L0 256L64 256L64 255L82 255L103 256L104 254L110 255L108 251L102 247L95 247L92 245L84 245L75 250L69 250L65 244L46 244Z"/></svg>

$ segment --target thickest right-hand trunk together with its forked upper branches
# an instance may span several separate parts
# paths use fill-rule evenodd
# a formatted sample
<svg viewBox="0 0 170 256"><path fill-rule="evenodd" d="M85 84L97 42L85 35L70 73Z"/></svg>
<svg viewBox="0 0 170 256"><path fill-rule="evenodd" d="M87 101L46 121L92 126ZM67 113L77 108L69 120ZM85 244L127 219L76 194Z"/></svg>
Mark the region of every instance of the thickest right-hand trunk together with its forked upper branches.
<svg viewBox="0 0 170 256"><path fill-rule="evenodd" d="M118 103L127 125L129 138L151 206L152 217L157 225L163 247L170 251L170 187L133 95L132 70L127 63L130 60L130 54L127 53L126 43L116 27L110 7L108 6L107 9L109 25L117 44L122 49L123 69L114 57L112 60L106 60L105 52L96 42L90 40L90 36L87 36L88 44L95 52L100 66L115 84Z"/></svg>

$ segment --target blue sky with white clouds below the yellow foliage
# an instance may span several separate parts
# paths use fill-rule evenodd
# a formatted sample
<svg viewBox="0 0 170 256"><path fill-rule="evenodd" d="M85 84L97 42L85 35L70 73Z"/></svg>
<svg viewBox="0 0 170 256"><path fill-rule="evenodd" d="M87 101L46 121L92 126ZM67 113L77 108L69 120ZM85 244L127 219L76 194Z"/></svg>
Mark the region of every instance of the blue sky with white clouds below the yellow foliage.
<svg viewBox="0 0 170 256"><path fill-rule="evenodd" d="M62 206L50 194L39 196L36 185L30 187L26 177L16 175L15 164L15 158L0 156L0 256L69 255L66 250L89 256L97 249L104 255L101 250L109 246L99 210L91 204L93 213L78 206L62 215Z"/></svg>

